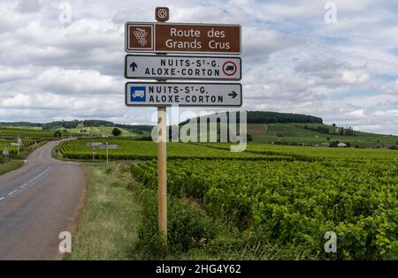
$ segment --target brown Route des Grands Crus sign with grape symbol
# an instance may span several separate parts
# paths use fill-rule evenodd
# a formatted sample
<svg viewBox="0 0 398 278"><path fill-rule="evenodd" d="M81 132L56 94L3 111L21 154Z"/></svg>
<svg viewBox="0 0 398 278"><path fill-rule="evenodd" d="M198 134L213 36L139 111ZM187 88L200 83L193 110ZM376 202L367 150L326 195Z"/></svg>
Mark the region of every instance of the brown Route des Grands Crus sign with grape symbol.
<svg viewBox="0 0 398 278"><path fill-rule="evenodd" d="M127 22L126 52L241 54L241 26Z"/></svg>

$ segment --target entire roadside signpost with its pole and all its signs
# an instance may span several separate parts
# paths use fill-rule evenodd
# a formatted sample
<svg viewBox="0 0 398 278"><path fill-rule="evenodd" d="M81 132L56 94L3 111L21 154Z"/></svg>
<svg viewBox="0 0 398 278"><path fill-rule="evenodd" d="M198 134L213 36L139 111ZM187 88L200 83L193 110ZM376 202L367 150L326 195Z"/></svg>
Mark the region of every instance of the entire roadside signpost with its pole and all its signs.
<svg viewBox="0 0 398 278"><path fill-rule="evenodd" d="M167 7L157 7L157 22L127 22L126 79L157 82L127 82L126 106L157 107L158 229L167 244L167 125L166 107L241 107L238 83L171 83L167 79L240 80L241 26L165 23ZM169 53L228 56L166 56ZM155 54L155 55L153 55Z"/></svg>

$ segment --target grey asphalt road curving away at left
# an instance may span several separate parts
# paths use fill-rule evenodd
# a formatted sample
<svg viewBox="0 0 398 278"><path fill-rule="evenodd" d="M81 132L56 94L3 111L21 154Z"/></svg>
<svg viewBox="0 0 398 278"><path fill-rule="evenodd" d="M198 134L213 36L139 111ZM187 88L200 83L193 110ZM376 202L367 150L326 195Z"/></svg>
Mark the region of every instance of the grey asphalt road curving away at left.
<svg viewBox="0 0 398 278"><path fill-rule="evenodd" d="M58 235L71 231L84 194L79 164L51 157L56 141L0 176L0 259L57 259Z"/></svg>

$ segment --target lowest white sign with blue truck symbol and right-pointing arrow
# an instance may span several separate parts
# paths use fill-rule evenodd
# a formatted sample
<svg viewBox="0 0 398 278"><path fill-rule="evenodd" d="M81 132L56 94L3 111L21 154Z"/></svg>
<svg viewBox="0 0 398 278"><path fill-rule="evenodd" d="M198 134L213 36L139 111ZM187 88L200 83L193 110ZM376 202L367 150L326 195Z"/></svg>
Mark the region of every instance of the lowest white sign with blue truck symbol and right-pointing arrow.
<svg viewBox="0 0 398 278"><path fill-rule="evenodd" d="M126 83L127 106L241 107L239 83Z"/></svg>

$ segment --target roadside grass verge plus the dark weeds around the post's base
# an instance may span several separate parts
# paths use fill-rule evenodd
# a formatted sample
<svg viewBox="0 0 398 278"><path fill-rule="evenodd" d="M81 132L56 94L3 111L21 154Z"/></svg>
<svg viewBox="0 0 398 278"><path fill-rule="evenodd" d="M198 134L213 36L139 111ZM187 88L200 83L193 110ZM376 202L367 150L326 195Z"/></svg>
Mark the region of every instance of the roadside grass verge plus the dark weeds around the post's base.
<svg viewBox="0 0 398 278"><path fill-rule="evenodd" d="M157 191L134 181L130 162L82 163L85 206L64 259L317 259L304 247L269 244L226 229L195 201L168 198L168 248L157 234Z"/></svg>

